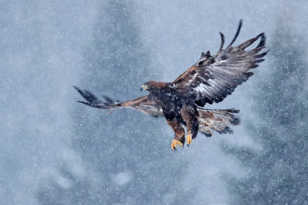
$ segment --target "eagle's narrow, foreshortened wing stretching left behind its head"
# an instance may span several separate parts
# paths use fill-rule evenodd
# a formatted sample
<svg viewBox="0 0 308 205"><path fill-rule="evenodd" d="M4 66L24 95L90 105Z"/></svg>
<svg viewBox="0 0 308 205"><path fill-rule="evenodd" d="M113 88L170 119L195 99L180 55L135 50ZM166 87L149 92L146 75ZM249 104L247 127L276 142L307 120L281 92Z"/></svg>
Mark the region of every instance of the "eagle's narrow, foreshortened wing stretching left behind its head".
<svg viewBox="0 0 308 205"><path fill-rule="evenodd" d="M123 103L115 103L109 97L103 96L105 102L91 92L86 90L81 90L74 86L74 88L85 98L86 101L78 101L79 103L85 104L93 108L101 109L117 109L117 108L133 108L139 110L145 114L158 117L164 116L162 109L156 104L156 102L150 98L149 95L138 97L136 99L127 100Z"/></svg>

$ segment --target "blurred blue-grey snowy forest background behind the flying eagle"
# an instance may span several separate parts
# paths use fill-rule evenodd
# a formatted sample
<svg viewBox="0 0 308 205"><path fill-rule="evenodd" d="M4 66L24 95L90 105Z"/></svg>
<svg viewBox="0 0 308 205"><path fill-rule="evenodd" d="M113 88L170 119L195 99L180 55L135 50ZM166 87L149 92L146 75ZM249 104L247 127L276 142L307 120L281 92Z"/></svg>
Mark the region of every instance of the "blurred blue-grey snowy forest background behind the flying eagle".
<svg viewBox="0 0 308 205"><path fill-rule="evenodd" d="M2 1L0 204L308 204L308 3ZM226 43L271 52L222 103L233 135L170 150L165 119L76 103L172 81Z"/></svg>

